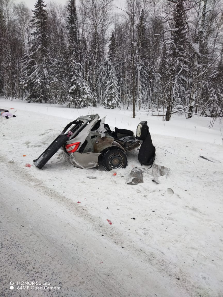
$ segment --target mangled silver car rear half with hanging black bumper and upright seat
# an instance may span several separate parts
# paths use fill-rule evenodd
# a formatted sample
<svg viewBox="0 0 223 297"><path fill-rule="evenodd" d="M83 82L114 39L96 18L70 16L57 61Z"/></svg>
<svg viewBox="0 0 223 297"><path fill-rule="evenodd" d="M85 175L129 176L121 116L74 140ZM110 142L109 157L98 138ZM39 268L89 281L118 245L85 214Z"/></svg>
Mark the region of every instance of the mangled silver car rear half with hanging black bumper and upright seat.
<svg viewBox="0 0 223 297"><path fill-rule="evenodd" d="M152 165L156 157L147 121L139 123L136 136L131 130L116 128L112 131L105 124L106 117L98 114L80 116L69 123L60 135L35 160L34 165L42 168L62 148L69 155L71 163L78 168L103 166L110 171L125 168L129 151L139 147L138 160Z"/></svg>

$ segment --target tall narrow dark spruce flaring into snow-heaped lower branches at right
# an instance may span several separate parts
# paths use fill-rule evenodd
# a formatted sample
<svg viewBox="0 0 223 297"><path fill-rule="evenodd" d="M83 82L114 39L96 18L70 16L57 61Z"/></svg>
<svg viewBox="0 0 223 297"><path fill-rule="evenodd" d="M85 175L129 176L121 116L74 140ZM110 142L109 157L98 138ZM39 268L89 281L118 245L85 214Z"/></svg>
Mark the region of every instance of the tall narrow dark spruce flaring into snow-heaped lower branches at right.
<svg viewBox="0 0 223 297"><path fill-rule="evenodd" d="M69 61L69 86L68 106L81 108L96 106L97 98L89 89L82 77L82 65L79 52L79 31L76 15L75 0L69 0L67 4L67 31L68 31L68 61Z"/></svg>

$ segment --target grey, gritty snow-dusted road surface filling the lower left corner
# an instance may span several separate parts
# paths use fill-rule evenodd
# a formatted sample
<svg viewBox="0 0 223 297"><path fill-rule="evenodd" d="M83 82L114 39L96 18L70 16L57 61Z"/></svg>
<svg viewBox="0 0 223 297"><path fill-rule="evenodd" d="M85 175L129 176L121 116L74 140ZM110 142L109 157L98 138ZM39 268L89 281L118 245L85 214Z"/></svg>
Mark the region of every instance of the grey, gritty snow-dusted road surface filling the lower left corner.
<svg viewBox="0 0 223 297"><path fill-rule="evenodd" d="M189 296L140 255L99 234L71 201L1 166L1 297ZM22 281L60 290L18 290Z"/></svg>

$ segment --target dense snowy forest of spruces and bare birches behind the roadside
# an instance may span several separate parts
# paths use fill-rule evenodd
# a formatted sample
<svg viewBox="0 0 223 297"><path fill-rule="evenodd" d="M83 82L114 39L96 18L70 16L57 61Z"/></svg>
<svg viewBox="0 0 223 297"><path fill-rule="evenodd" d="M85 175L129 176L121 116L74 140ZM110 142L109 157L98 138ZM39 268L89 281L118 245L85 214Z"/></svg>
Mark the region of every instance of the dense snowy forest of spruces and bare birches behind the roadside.
<svg viewBox="0 0 223 297"><path fill-rule="evenodd" d="M223 1L0 0L0 95L223 116Z"/></svg>

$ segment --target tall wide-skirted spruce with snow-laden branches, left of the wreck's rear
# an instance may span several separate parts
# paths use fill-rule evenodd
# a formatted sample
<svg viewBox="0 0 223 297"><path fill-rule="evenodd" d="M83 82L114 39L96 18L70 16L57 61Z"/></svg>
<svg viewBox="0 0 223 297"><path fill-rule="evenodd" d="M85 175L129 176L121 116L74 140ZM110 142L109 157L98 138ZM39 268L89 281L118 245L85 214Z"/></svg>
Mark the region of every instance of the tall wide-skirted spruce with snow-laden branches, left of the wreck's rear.
<svg viewBox="0 0 223 297"><path fill-rule="evenodd" d="M47 31L47 10L44 0L37 0L32 10L31 26L33 29L31 46L23 56L23 88L29 92L27 100L50 102L51 76Z"/></svg>

